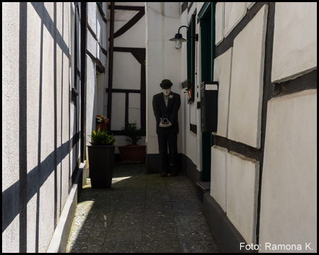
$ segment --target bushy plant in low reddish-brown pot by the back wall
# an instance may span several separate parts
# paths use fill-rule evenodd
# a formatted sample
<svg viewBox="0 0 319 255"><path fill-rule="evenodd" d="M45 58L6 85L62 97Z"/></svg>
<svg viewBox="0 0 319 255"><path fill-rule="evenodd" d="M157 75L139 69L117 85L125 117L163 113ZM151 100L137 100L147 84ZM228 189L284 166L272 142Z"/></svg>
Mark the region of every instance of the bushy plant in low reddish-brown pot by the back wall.
<svg viewBox="0 0 319 255"><path fill-rule="evenodd" d="M126 141L131 143L126 146L118 146L122 163L134 164L145 162L146 145L137 145L138 140L145 135L145 131L142 128L138 129L136 125L136 123L126 123L125 128L122 128L125 136L128 137Z"/></svg>

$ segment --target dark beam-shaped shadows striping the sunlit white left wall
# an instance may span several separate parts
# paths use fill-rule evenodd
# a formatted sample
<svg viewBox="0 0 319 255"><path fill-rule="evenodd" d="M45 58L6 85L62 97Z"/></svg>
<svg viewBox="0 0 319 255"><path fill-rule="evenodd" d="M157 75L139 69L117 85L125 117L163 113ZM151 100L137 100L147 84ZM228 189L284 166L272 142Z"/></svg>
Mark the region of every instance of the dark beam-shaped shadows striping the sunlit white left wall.
<svg viewBox="0 0 319 255"><path fill-rule="evenodd" d="M40 67L39 67L39 101L38 101L38 155L32 155L33 157L38 157L38 166L35 166L33 169L28 171L27 163L28 163L28 152L27 152L27 142L28 141L28 132L27 132L27 87L33 86L33 84L27 84L27 70L28 70L28 60L27 54L28 52L28 15L32 13L31 11L28 12L28 6L30 4L33 6L36 13L41 20L40 26ZM13 183L9 188L7 188L2 193L2 233L11 225L13 220L18 216L18 224L19 228L15 229L16 233L18 233L18 240L19 240L19 251L26 252L27 251L27 218L33 217L32 215L28 215L28 203L36 195L36 215L35 215L35 238L28 238L28 242L30 239L35 239L35 252L39 252L39 246L43 246L43 244L39 244L39 229L40 229L40 188L43 184L47 181L49 176L54 172L54 183L55 183L55 190L54 190L54 219L49 219L48 222L54 222L55 227L57 225L57 219L61 214L62 208L62 185L60 185L60 212L57 212L57 166L60 164L60 183L62 183L62 160L67 157L69 154L69 141L62 144L62 134L57 134L57 84L62 86L61 91L63 91L63 82L64 79L68 80L69 77L63 77L63 60L64 55L69 56L69 47L65 40L63 39L63 34L65 31L63 30L62 25L62 35L60 34L59 30L57 30L57 3L54 3L54 21L50 17L50 14L47 12L47 9L44 6L44 3L20 3L20 10L19 10L19 180L16 183ZM29 7L30 8L30 7ZM62 17L64 18L64 11L65 11L65 4L62 3ZM64 22L64 19L62 21ZM30 19L30 18L29 18ZM43 28L47 28L48 33L52 36L54 40L54 52L53 52L53 63L51 63L54 67L54 151L52 151L42 162L41 159L41 149L43 145L41 145L41 140L45 134L42 134L42 125L43 120L42 116L43 113ZM30 36L30 35L29 35ZM60 47L62 50L62 70L61 70L61 81L57 81L57 46ZM45 63L47 64L47 63ZM68 67L67 67L68 68ZM63 95L59 95L63 97ZM68 95L67 95L68 98ZM32 106L30 106L32 107ZM62 124L62 100L61 100L61 124ZM69 116L67 116L69 119ZM62 128L62 127L61 127ZM68 132L69 130L67 130ZM35 131L36 132L36 131ZM59 142L57 140L60 140ZM74 135L71 139L71 145L77 143L78 139L77 136ZM60 147L57 147L57 144L61 144ZM29 156L30 157L30 156ZM67 167L69 169L69 167ZM69 176L70 178L70 176ZM66 181L68 183L69 180ZM29 212L30 213L30 212ZM15 233L15 234L16 234ZM10 245L10 244L9 244ZM6 247L8 249L12 249L13 247ZM17 248L16 248L17 249Z"/></svg>

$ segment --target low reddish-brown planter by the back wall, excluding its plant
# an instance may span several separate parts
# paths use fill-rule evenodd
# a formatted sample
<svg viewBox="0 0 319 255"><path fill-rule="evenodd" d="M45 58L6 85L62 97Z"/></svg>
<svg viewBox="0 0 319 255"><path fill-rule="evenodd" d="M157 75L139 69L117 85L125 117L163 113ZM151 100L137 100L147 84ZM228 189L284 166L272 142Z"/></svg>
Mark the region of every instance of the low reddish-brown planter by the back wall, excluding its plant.
<svg viewBox="0 0 319 255"><path fill-rule="evenodd" d="M122 163L144 163L146 155L146 145L126 145L118 146Z"/></svg>

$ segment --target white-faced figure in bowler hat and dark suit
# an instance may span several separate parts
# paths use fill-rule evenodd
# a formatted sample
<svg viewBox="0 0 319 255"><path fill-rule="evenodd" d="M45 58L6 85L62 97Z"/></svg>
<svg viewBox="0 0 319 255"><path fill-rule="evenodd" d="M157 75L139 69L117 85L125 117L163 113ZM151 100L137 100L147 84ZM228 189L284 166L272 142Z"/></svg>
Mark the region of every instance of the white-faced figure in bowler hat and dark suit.
<svg viewBox="0 0 319 255"><path fill-rule="evenodd" d="M181 106L181 96L172 92L173 84L169 79L162 80L159 86L162 92L153 96L152 105L156 118L160 176L166 177L167 174L177 176L179 171L177 162L178 111Z"/></svg>

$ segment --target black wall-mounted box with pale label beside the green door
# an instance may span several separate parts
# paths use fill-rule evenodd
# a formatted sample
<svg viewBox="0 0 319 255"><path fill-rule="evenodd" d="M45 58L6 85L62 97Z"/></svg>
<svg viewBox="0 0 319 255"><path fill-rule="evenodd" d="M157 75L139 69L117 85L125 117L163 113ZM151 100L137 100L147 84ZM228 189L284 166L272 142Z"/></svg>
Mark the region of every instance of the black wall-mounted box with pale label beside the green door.
<svg viewBox="0 0 319 255"><path fill-rule="evenodd" d="M201 132L217 132L218 81L201 84Z"/></svg>

